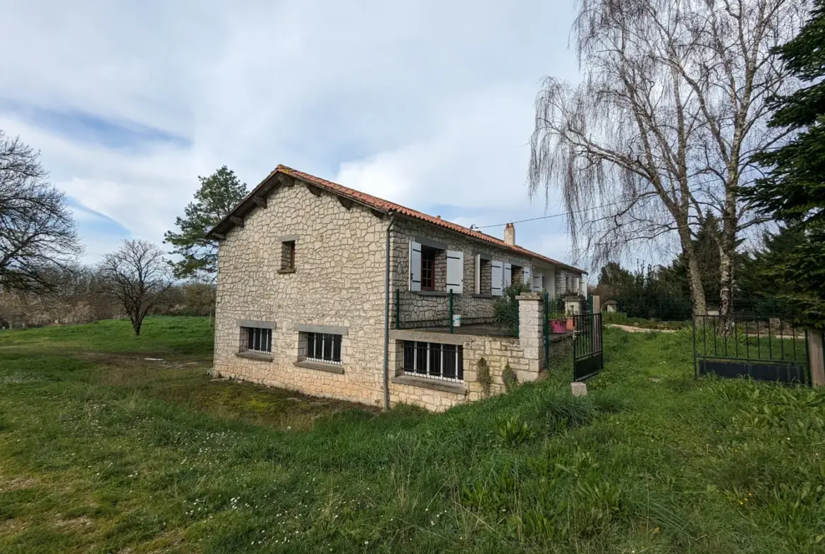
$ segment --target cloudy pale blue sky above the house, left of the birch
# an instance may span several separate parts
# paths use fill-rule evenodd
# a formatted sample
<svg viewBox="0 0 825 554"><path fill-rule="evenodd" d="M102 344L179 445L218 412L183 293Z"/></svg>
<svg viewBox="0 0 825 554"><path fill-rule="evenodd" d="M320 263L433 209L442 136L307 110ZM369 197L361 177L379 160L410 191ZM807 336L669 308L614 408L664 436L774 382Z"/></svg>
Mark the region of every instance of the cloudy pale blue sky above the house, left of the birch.
<svg viewBox="0 0 825 554"><path fill-rule="evenodd" d="M0 129L42 152L87 262L160 242L197 176L278 163L463 225L526 189L533 102L575 80L573 0L0 0ZM487 230L501 236L503 226ZM569 261L561 218L516 225Z"/></svg>

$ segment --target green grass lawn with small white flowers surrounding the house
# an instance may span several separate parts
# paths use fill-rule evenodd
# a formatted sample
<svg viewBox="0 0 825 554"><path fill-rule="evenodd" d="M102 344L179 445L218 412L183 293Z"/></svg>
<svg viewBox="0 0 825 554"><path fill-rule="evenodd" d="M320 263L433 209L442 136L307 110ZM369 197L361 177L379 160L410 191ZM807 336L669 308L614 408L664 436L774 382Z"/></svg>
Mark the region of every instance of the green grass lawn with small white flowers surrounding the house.
<svg viewBox="0 0 825 554"><path fill-rule="evenodd" d="M198 318L2 331L0 552L825 552L823 392L604 346L586 398L382 414L213 381Z"/></svg>

